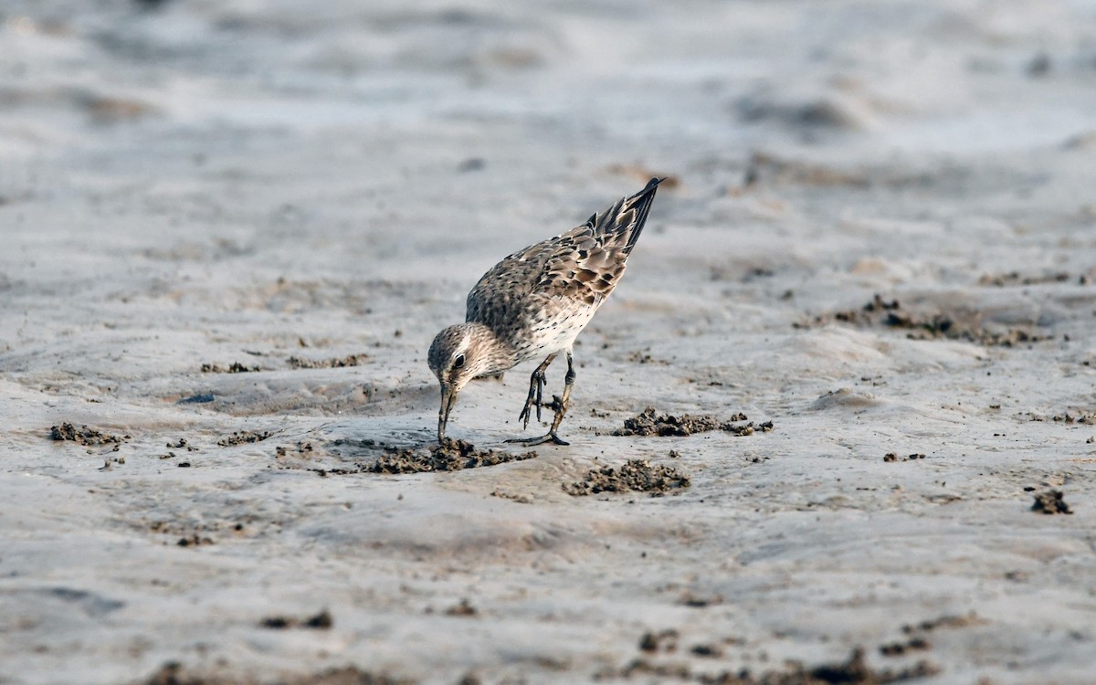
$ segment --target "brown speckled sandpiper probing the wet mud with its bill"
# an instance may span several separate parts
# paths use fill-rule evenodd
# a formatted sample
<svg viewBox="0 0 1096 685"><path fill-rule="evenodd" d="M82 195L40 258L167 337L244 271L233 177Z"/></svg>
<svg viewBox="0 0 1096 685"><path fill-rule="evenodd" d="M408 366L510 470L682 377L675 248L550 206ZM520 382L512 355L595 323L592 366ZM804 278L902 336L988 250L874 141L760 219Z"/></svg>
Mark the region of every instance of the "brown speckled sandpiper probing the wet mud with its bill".
<svg viewBox="0 0 1096 685"><path fill-rule="evenodd" d="M539 421L540 408L546 407L556 412L551 427L538 437L506 442L568 444L556 431L574 385L571 347L620 281L663 180L651 179L643 190L582 226L515 252L483 274L468 294L465 323L444 329L430 345L427 362L442 385L439 443L445 442L449 411L465 384L547 355L529 378L518 420L527 429L533 409ZM541 401L545 370L560 352L567 355L563 396L546 403Z"/></svg>

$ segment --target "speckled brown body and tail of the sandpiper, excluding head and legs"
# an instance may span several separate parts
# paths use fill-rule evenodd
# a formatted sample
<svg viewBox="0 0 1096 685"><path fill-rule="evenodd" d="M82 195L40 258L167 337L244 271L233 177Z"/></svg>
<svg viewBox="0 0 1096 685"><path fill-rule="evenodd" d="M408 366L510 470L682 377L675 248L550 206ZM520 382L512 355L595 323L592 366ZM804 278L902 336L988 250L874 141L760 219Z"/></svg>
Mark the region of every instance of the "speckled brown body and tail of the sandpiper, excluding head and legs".
<svg viewBox="0 0 1096 685"><path fill-rule="evenodd" d="M659 182L651 179L582 226L495 264L468 294L466 320L486 324L520 351L541 346L530 330L573 340L624 274Z"/></svg>

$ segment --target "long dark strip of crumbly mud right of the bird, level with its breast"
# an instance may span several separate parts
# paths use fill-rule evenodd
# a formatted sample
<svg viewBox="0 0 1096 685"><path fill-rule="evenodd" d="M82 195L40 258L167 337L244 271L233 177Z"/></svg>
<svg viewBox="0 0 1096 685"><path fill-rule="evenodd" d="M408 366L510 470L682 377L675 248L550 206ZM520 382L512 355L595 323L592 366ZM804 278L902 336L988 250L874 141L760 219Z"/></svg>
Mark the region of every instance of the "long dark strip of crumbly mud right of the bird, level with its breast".
<svg viewBox="0 0 1096 685"><path fill-rule="evenodd" d="M1013 347L1051 338L1032 333L1025 328L990 329L981 323L979 312L914 313L903 309L897 299L887 301L878 294L859 309L819 315L810 321L792 323L792 327L812 328L834 321L860 327L903 329L909 331L906 338L911 340L964 340L987 347Z"/></svg>

